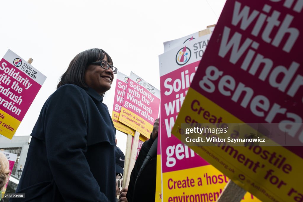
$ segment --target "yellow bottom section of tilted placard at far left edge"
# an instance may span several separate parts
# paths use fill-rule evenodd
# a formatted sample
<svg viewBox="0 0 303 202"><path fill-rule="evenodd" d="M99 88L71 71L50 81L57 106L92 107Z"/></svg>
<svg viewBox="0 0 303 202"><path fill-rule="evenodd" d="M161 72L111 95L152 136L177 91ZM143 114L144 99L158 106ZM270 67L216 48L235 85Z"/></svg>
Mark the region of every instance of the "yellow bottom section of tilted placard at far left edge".
<svg viewBox="0 0 303 202"><path fill-rule="evenodd" d="M0 134L12 139L21 121L0 110Z"/></svg>

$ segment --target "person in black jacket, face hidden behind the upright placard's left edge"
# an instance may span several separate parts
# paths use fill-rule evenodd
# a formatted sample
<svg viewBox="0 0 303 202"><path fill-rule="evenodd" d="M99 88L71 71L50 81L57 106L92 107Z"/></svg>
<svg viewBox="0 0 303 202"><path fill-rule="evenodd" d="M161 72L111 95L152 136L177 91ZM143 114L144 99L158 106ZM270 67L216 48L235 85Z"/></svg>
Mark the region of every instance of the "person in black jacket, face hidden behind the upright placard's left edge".
<svg viewBox="0 0 303 202"><path fill-rule="evenodd" d="M119 197L120 202L155 202L157 155L151 158L142 171L137 182L138 172L147 156L149 149L156 137L158 137L159 119L155 120L154 128L149 140L142 144L135 166L132 170L128 188L122 189ZM136 182L136 183L135 183Z"/></svg>

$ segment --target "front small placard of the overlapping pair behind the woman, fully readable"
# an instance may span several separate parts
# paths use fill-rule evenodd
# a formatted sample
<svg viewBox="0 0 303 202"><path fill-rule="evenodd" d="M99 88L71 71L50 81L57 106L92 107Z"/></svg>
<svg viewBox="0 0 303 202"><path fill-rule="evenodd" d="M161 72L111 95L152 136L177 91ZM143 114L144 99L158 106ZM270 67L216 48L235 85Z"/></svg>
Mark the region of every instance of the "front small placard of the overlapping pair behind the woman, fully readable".
<svg viewBox="0 0 303 202"><path fill-rule="evenodd" d="M160 91L131 72L119 121L150 138L159 105Z"/></svg>

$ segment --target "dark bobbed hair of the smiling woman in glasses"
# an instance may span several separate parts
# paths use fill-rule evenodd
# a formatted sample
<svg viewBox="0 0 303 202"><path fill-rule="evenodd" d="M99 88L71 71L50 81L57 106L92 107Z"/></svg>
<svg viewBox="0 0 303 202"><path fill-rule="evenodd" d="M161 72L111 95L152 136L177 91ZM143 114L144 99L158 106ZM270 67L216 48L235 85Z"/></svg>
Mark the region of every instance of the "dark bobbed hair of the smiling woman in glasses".
<svg viewBox="0 0 303 202"><path fill-rule="evenodd" d="M88 87L84 82L85 69L96 61L103 60L107 57L108 63L113 63L112 58L102 49L88 49L80 52L69 63L69 66L60 78L60 82L57 85L57 89L65 84L75 84L80 87Z"/></svg>

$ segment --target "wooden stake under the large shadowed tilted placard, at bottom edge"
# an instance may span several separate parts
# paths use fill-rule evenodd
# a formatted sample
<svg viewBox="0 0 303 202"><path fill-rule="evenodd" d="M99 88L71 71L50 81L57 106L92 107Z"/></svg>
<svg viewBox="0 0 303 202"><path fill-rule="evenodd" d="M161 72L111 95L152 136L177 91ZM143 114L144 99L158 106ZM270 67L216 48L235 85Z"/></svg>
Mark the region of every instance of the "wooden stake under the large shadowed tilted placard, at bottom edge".
<svg viewBox="0 0 303 202"><path fill-rule="evenodd" d="M246 194L246 190L242 189L236 183L230 180L224 187L224 190L222 194L219 196L217 202L226 202L226 201L240 202L245 194Z"/></svg>

